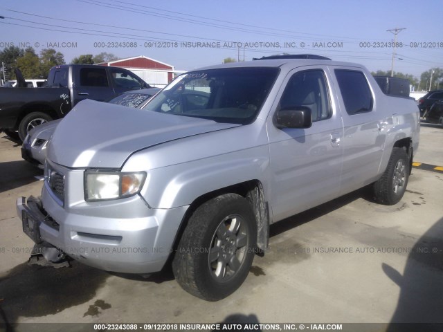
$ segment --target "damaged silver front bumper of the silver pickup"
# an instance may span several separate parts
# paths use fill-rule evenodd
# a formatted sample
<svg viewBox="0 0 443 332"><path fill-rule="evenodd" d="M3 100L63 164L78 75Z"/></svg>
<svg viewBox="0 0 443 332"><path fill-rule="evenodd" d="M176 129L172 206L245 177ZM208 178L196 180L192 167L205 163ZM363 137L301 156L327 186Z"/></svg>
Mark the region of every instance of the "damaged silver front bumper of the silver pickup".
<svg viewBox="0 0 443 332"><path fill-rule="evenodd" d="M124 205L139 211L140 204L141 199L133 197ZM119 273L161 270L188 207L150 209L145 205L145 215L129 213L122 218L122 206L111 213L114 217L98 215L100 205L93 214L76 214L57 204L44 188L42 201L33 196L17 199L17 214L35 243L50 243L83 264Z"/></svg>

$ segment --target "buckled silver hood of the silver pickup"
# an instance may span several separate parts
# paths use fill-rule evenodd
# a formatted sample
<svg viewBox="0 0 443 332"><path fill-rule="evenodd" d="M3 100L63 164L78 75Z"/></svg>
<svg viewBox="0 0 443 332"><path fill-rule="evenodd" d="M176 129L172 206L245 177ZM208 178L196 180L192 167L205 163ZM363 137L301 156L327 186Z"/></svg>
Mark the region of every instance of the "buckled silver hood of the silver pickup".
<svg viewBox="0 0 443 332"><path fill-rule="evenodd" d="M66 167L120 168L135 151L239 125L84 100L57 125L48 160Z"/></svg>

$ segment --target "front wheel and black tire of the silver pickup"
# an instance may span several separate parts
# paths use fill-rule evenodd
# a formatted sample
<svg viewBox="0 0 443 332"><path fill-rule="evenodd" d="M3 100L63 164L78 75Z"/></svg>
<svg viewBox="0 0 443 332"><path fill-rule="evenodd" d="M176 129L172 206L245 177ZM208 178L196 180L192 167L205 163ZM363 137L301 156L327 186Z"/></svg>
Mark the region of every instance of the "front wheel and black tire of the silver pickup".
<svg viewBox="0 0 443 332"><path fill-rule="evenodd" d="M242 285L254 259L257 225L251 204L224 194L190 216L172 270L188 293L218 301Z"/></svg>

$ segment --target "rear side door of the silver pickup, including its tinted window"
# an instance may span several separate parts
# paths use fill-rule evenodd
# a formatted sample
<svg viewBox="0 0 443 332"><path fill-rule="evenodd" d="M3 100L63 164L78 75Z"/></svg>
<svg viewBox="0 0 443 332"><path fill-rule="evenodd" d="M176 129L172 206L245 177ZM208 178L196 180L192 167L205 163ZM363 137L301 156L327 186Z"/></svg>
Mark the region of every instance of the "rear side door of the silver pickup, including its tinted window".
<svg viewBox="0 0 443 332"><path fill-rule="evenodd" d="M334 67L332 73L340 92L338 102L345 129L341 174L341 194L345 194L377 180L392 113L386 113L383 103L374 98L376 94L368 82L370 74L347 66Z"/></svg>

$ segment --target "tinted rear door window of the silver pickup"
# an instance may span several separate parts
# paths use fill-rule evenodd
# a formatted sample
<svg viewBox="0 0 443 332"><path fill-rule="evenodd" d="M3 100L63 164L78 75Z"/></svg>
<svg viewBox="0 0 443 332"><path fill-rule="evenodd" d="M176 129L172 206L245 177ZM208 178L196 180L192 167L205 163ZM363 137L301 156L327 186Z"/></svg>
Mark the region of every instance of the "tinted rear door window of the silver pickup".
<svg viewBox="0 0 443 332"><path fill-rule="evenodd" d="M346 112L352 116L372 111L372 93L368 81L361 71L336 69L335 75Z"/></svg>

